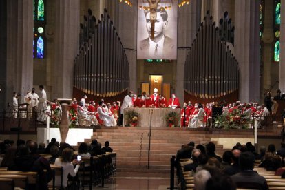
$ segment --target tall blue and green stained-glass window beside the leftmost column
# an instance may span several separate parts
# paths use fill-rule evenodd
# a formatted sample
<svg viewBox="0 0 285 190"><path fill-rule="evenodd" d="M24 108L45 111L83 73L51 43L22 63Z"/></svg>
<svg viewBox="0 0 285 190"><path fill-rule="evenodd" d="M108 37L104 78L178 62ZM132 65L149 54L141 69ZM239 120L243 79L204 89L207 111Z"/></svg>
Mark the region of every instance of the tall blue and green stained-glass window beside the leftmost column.
<svg viewBox="0 0 285 190"><path fill-rule="evenodd" d="M45 0L34 0L34 58L45 57L45 23Z"/></svg>

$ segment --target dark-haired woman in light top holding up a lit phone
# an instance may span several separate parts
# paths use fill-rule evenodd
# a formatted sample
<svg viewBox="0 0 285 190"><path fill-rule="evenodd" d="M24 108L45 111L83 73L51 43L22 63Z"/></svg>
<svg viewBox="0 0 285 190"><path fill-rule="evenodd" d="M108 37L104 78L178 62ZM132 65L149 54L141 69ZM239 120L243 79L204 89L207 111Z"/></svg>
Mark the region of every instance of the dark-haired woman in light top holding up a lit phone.
<svg viewBox="0 0 285 190"><path fill-rule="evenodd" d="M74 159L72 160L74 155L74 151L70 148L63 149L63 153L59 158L56 158L54 165L63 167L63 187L65 188L67 186L68 181L68 174L70 176L74 177L76 176L76 173L78 172L80 160ZM76 165L74 168L73 165ZM61 176L56 176L55 180L56 186L59 186L61 184Z"/></svg>

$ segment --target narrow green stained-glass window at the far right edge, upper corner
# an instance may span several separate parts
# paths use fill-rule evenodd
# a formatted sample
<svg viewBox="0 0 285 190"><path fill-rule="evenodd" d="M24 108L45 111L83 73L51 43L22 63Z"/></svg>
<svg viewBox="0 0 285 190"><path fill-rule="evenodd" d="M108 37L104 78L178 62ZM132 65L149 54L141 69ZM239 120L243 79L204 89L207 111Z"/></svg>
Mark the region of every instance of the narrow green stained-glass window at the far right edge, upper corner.
<svg viewBox="0 0 285 190"><path fill-rule="evenodd" d="M275 0L275 12L274 12L274 55L273 55L273 61L274 63L279 63L279 57L280 57L280 23L281 23L281 17L280 17L280 11L281 11L281 3L280 0Z"/></svg>

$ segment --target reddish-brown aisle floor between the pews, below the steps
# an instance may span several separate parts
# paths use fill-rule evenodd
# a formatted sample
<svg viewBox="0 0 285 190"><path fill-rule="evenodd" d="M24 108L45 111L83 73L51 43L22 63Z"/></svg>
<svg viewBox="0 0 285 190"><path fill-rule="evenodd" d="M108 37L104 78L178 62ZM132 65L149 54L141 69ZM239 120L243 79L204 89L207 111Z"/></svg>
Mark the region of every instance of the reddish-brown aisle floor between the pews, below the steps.
<svg viewBox="0 0 285 190"><path fill-rule="evenodd" d="M117 172L105 181L105 187L94 189L107 190L162 190L170 184L169 173L127 173Z"/></svg>

